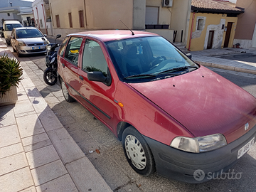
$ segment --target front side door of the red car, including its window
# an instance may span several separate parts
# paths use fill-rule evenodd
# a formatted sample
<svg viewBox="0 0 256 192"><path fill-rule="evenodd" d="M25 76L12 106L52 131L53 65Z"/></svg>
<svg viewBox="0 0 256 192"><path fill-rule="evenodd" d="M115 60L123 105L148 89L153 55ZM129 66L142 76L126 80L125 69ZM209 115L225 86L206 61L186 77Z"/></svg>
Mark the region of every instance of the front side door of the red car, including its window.
<svg viewBox="0 0 256 192"><path fill-rule="evenodd" d="M107 63L107 60L110 62L110 59L106 60L106 57L107 52L100 41L92 38L86 39L81 58L81 68L78 71L81 83L78 92L82 97L82 104L111 128L117 124L117 113L120 110L120 107L114 102L116 85L114 81L107 84L90 81L87 78L87 73L91 71L100 71L105 77L111 78L110 63Z"/></svg>

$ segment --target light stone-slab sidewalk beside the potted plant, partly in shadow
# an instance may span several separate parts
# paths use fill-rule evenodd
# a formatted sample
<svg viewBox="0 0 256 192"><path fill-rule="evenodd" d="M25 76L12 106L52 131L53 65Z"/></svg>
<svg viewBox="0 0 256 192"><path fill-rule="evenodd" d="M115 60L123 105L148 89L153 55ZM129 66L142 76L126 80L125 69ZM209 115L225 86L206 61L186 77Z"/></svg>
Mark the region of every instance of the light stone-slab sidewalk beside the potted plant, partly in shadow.
<svg viewBox="0 0 256 192"><path fill-rule="evenodd" d="M0 38L0 55L8 53ZM0 107L1 191L111 191L28 78L16 105Z"/></svg>

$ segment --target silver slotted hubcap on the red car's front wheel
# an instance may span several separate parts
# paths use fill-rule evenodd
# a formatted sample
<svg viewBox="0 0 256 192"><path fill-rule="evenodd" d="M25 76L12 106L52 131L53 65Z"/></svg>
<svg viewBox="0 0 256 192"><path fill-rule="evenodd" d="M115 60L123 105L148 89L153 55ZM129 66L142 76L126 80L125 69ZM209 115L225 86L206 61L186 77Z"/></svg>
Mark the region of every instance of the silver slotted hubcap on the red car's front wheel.
<svg viewBox="0 0 256 192"><path fill-rule="evenodd" d="M146 167L146 155L139 140L133 135L127 135L125 138L125 149L127 156L131 159L132 164L139 170Z"/></svg>

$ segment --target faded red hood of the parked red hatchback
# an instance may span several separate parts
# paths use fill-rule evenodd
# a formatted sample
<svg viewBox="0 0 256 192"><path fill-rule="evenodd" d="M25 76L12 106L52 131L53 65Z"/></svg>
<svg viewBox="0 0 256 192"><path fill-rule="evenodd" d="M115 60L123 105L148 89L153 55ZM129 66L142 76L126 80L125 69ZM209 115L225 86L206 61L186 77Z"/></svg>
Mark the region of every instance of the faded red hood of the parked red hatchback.
<svg viewBox="0 0 256 192"><path fill-rule="evenodd" d="M256 124L255 97L203 66L174 78L129 85L195 137L222 133L229 143L245 134L247 122L250 129Z"/></svg>

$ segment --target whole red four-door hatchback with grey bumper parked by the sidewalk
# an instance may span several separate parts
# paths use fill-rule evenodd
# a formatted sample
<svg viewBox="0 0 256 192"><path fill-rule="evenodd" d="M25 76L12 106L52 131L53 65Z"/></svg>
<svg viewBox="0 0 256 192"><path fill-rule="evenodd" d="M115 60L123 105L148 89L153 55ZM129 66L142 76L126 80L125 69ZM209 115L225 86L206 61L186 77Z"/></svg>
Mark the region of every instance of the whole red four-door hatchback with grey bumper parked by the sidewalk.
<svg viewBox="0 0 256 192"><path fill-rule="evenodd" d="M200 183L255 143L256 99L142 31L87 31L58 51L65 100L77 100L122 141L132 169Z"/></svg>

